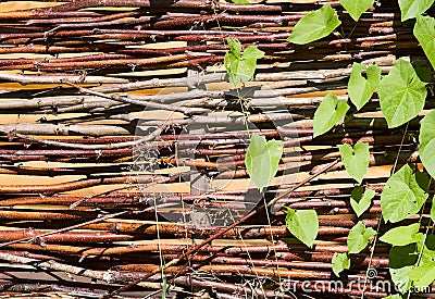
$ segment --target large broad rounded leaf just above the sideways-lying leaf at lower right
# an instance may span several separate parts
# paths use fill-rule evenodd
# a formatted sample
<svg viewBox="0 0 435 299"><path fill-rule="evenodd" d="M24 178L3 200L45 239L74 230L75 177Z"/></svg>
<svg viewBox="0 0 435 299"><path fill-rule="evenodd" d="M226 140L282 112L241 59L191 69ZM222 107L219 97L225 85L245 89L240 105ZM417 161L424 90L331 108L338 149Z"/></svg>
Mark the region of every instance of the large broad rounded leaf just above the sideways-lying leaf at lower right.
<svg viewBox="0 0 435 299"><path fill-rule="evenodd" d="M420 211L427 199L407 164L393 174L381 194L381 210L385 222L399 222Z"/></svg>

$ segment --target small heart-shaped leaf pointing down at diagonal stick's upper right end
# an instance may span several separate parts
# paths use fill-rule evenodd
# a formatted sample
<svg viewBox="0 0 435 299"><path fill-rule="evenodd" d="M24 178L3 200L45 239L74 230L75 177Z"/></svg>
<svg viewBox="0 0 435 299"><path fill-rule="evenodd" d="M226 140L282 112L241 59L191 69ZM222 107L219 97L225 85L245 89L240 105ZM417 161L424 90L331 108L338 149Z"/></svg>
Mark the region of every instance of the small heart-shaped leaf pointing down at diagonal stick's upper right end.
<svg viewBox="0 0 435 299"><path fill-rule="evenodd" d="M353 149L348 144L338 146L343 164L349 175L361 184L369 169L369 144L358 141Z"/></svg>

